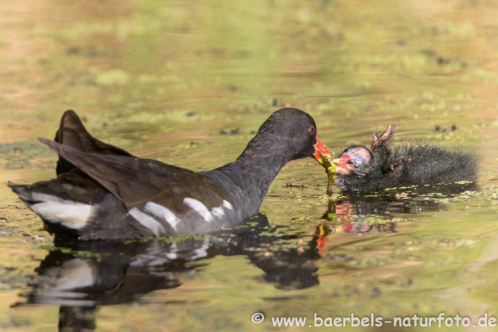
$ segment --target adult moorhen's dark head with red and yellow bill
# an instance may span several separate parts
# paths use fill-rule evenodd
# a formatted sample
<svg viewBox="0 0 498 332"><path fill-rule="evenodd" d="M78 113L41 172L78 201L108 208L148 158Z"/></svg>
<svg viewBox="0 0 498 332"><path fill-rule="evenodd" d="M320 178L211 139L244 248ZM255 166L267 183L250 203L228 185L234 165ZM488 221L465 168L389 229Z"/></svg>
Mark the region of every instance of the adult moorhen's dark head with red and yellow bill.
<svg viewBox="0 0 498 332"><path fill-rule="evenodd" d="M253 153L259 156L280 153L287 157L287 161L313 157L319 163L322 163L320 153L330 157L318 139L315 120L308 113L294 108L275 111L264 121L243 155Z"/></svg>

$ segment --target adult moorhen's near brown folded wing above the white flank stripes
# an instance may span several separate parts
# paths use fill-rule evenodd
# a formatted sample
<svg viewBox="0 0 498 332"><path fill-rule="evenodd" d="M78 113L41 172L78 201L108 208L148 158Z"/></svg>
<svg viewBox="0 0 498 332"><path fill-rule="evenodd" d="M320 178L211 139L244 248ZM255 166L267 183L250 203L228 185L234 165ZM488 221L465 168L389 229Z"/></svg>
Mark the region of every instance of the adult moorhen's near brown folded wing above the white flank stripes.
<svg viewBox="0 0 498 332"><path fill-rule="evenodd" d="M185 198L211 210L228 197L208 178L184 168L152 159L81 152L46 138L38 141L109 190L128 210L142 210L153 202L180 214L188 209Z"/></svg>

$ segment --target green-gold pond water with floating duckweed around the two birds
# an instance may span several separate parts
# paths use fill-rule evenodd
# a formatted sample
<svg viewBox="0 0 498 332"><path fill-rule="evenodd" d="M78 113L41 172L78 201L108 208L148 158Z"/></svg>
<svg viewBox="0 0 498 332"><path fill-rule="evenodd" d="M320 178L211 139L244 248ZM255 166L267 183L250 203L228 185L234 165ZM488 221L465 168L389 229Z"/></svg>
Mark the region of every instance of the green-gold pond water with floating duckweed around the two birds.
<svg viewBox="0 0 498 332"><path fill-rule="evenodd" d="M484 0L0 2L0 330L351 329L315 313L493 330L478 320L498 316L496 17ZM289 105L330 152L397 123L397 141L480 149L480 178L327 196L324 169L296 160L246 224L112 243L54 242L6 187L55 176L35 137L67 109L105 142L200 171Z"/></svg>

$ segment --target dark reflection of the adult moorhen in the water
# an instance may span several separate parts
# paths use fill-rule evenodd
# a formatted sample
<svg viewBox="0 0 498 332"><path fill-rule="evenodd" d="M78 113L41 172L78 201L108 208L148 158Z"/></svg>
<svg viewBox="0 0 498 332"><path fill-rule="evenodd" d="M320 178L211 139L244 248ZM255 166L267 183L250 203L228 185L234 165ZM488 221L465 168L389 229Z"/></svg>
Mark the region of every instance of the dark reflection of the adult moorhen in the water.
<svg viewBox="0 0 498 332"><path fill-rule="evenodd" d="M58 304L60 313L65 314L59 317L60 329L75 328L78 324L91 327L95 317L82 317L78 312L90 314L96 306L134 302L149 292L179 287L184 277L195 274L199 266L210 265L206 259L217 255L247 257L264 271L264 279L277 288L316 285L318 267L314 261L320 258L316 237L297 246L273 245L295 238L276 229L269 226L265 215L258 213L238 227L223 230L223 234L176 237L174 242L161 238L55 240L57 248L50 250L35 268L38 276L30 280L33 288L23 294L27 301L14 306ZM261 236L263 232L265 235ZM248 250L251 247L262 251ZM89 252L92 254L88 255ZM146 298L138 301L147 303Z"/></svg>

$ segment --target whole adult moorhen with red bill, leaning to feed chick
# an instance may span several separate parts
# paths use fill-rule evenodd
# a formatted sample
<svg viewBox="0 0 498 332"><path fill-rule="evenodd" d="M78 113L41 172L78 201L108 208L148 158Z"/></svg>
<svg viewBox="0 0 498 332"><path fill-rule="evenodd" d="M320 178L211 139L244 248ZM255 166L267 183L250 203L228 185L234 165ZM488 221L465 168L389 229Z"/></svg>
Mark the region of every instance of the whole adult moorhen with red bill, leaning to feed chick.
<svg viewBox="0 0 498 332"><path fill-rule="evenodd" d="M294 108L275 111L236 161L195 173L92 137L73 111L55 142L56 179L10 185L57 235L82 239L194 234L231 227L259 209L271 181L294 159L328 155L313 118Z"/></svg>

